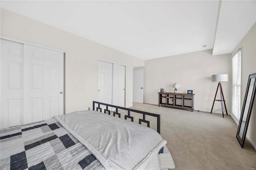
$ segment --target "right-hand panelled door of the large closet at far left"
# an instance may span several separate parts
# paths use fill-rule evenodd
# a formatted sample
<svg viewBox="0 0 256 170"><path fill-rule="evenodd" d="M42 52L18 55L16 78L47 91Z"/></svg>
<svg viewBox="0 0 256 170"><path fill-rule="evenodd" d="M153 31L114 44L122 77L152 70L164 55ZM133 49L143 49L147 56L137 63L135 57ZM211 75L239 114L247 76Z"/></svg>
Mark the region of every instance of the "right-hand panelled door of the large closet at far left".
<svg viewBox="0 0 256 170"><path fill-rule="evenodd" d="M24 44L24 123L64 114L64 53Z"/></svg>

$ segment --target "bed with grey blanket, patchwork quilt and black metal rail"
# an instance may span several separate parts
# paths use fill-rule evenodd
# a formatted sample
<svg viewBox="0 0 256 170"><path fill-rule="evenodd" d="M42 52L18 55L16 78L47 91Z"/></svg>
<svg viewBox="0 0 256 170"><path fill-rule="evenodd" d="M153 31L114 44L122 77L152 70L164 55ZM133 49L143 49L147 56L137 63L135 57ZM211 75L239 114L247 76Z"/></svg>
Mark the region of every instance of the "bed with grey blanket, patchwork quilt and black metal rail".
<svg viewBox="0 0 256 170"><path fill-rule="evenodd" d="M141 115L138 123L135 113ZM157 132L148 128L148 117L156 119ZM160 115L96 101L92 111L54 116L0 133L1 170L175 168L160 136Z"/></svg>

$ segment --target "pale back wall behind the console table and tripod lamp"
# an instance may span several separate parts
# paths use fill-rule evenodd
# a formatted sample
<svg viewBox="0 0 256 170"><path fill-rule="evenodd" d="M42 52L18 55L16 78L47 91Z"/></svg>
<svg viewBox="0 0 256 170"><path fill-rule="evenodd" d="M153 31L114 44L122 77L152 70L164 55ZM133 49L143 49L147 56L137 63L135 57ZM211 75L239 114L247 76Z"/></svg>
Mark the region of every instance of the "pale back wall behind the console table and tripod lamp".
<svg viewBox="0 0 256 170"><path fill-rule="evenodd" d="M144 102L158 104L158 92L164 88L173 92L172 84L178 83L178 93L193 90L194 109L210 112L218 82L211 81L211 75L228 74L229 81L222 82L228 113L231 111L231 54L212 55L212 50L204 50L145 61ZM220 91L217 93L220 99ZM213 111L221 109L216 101ZM218 111L217 113L220 113Z"/></svg>

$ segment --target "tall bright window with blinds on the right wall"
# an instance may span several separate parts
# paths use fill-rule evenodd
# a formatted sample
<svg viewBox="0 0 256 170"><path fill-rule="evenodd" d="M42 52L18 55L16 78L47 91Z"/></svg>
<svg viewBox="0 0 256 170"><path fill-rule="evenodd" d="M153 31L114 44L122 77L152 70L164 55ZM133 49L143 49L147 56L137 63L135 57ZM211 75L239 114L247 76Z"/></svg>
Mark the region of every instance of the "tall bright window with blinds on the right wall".
<svg viewBox="0 0 256 170"><path fill-rule="evenodd" d="M232 113L240 119L241 101L241 49L232 57Z"/></svg>

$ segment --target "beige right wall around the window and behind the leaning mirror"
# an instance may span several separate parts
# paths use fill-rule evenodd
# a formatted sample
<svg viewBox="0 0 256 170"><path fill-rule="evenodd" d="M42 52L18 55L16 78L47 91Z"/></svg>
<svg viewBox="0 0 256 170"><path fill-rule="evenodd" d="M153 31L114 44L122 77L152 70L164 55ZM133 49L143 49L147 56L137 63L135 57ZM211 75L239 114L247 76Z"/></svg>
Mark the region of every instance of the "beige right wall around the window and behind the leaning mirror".
<svg viewBox="0 0 256 170"><path fill-rule="evenodd" d="M235 55L238 48L242 47L241 57L241 110L244 103L244 95L248 82L249 74L256 73L256 24L248 31L246 36L237 45L232 52ZM237 121L236 121L237 123ZM253 103L252 114L248 126L246 137L251 142L256 150L256 99Z"/></svg>

